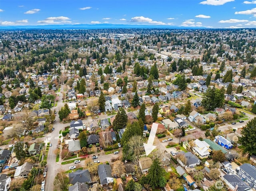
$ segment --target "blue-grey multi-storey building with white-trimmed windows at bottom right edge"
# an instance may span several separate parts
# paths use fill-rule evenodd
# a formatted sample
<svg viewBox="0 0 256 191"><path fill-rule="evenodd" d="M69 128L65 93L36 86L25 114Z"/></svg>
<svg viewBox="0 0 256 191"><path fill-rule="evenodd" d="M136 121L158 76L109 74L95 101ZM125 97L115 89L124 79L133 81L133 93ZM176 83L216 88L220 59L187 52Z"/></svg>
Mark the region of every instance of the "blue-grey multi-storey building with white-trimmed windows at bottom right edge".
<svg viewBox="0 0 256 191"><path fill-rule="evenodd" d="M256 167L251 165L250 163L244 163L238 169L238 177L244 179L248 185L256 189Z"/></svg>

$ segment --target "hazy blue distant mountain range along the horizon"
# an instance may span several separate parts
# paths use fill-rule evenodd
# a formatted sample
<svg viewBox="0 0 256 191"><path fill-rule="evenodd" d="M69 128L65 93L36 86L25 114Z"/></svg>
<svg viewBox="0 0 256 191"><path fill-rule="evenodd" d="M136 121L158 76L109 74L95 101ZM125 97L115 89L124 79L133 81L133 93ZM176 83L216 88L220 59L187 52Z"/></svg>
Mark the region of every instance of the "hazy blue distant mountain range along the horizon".
<svg viewBox="0 0 256 191"><path fill-rule="evenodd" d="M157 28L157 29L206 29L205 27L180 27L166 25L125 25L125 24L77 24L77 25L37 25L0 26L0 29L116 29L116 28Z"/></svg>

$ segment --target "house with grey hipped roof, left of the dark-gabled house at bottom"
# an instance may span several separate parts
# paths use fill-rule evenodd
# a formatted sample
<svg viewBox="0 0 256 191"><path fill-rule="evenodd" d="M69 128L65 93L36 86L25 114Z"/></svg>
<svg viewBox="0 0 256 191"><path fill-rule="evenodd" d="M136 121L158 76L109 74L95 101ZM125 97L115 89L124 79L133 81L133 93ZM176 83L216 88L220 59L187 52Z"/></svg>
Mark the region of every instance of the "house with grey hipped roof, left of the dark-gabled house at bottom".
<svg viewBox="0 0 256 191"><path fill-rule="evenodd" d="M69 178L69 183L70 184L75 184L76 182L79 183L91 183L91 175L88 169L86 170L80 170L78 169L75 172L68 173L68 178Z"/></svg>

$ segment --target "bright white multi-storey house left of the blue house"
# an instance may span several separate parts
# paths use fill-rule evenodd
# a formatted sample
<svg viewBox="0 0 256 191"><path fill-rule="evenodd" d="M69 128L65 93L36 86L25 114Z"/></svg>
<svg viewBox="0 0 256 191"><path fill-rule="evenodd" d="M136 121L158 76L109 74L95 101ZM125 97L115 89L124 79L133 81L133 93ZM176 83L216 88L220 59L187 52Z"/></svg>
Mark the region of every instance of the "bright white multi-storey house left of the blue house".
<svg viewBox="0 0 256 191"><path fill-rule="evenodd" d="M200 141L200 140L196 139L194 141L194 147L192 148L192 151L200 159L203 159L203 158L208 158L208 156L210 156L210 152L212 150L210 149L210 145L208 143L206 143L205 141Z"/></svg>

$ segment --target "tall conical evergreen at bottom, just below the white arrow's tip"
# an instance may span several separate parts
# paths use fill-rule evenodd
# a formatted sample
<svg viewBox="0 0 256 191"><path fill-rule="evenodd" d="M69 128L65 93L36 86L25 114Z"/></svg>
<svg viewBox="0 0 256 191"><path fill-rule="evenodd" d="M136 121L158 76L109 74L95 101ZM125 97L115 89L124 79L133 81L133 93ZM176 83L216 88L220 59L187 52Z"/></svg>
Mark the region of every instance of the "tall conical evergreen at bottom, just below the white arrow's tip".
<svg viewBox="0 0 256 191"><path fill-rule="evenodd" d="M166 185L166 179L164 178L164 169L160 166L158 158L153 160L150 169L148 170L148 175L146 176L148 183L152 189L163 188Z"/></svg>

